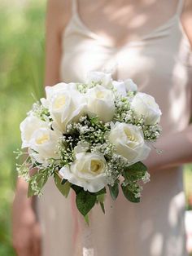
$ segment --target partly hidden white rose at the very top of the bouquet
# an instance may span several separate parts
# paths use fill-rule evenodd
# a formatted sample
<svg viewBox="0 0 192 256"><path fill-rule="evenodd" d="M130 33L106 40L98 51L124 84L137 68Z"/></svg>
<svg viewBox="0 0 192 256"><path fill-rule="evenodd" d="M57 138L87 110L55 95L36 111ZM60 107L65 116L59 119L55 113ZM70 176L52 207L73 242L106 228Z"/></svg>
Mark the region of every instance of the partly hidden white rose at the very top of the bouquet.
<svg viewBox="0 0 192 256"><path fill-rule="evenodd" d="M111 73L103 73L97 71L90 71L87 74L86 83L98 83L102 86L109 86L112 82Z"/></svg>

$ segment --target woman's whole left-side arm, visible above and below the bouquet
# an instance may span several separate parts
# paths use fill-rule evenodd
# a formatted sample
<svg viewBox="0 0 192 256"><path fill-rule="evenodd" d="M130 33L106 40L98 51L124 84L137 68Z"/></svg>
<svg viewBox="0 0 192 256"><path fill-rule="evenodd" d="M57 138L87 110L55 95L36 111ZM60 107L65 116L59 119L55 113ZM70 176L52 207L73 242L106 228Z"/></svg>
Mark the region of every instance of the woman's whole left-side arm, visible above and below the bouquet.
<svg viewBox="0 0 192 256"><path fill-rule="evenodd" d="M45 85L59 82L61 31L71 15L70 0L49 0L46 15ZM28 183L18 179L12 205L13 246L18 256L41 255L41 232L33 209L35 197L28 198Z"/></svg>

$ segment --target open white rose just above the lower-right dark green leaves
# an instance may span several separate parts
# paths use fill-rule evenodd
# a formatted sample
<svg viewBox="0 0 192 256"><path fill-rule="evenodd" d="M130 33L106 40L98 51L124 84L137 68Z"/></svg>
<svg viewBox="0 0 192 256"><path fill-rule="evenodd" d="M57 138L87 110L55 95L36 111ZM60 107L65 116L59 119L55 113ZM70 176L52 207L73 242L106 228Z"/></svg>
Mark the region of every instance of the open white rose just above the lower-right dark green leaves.
<svg viewBox="0 0 192 256"><path fill-rule="evenodd" d="M151 151L143 139L142 129L137 126L116 122L108 139L115 145L116 153L130 164L146 159Z"/></svg>

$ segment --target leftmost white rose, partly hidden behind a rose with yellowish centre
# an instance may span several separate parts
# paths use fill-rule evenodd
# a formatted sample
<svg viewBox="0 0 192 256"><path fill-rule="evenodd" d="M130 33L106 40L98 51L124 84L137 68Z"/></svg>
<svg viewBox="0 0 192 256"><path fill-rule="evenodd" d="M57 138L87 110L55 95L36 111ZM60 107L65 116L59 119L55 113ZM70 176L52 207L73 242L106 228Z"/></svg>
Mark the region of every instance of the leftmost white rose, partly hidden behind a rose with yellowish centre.
<svg viewBox="0 0 192 256"><path fill-rule="evenodd" d="M22 148L27 148L29 146L29 141L32 138L32 135L35 130L39 128L48 127L46 121L41 121L40 118L30 115L20 123L21 139L22 139Z"/></svg>

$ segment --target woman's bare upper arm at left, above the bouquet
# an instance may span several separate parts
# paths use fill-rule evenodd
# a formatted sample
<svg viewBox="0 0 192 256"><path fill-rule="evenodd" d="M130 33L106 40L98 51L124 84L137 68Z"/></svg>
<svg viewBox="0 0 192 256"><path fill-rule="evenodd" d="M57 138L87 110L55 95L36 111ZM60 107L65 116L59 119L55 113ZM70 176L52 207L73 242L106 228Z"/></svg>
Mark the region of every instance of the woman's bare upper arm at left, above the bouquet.
<svg viewBox="0 0 192 256"><path fill-rule="evenodd" d="M72 15L70 0L49 0L46 15L46 73L45 86L60 82L62 33Z"/></svg>

